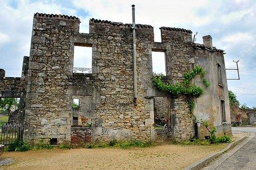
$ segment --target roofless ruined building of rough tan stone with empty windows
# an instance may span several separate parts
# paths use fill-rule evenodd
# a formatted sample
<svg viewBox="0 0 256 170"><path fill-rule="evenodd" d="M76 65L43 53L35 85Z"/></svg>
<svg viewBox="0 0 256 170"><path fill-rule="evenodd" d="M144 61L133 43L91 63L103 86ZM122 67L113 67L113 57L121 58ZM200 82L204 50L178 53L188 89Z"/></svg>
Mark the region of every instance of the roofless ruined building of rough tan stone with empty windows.
<svg viewBox="0 0 256 170"><path fill-rule="evenodd" d="M131 26L90 19L89 33L80 33L77 17L34 15L22 77L5 77L0 70L0 97L21 98L24 139L76 146L194 137L186 97L170 96L152 84L152 52L165 54L164 78L171 83L183 81L195 66L205 69L210 87L202 85L200 76L193 79L205 90L196 98L194 115L215 126L217 135L231 134L224 51L213 47L211 36L196 44L190 30L161 27L161 42L154 42L153 27L136 24L134 42ZM75 46L91 48L91 73L73 71ZM209 136L202 126L196 131L199 137Z"/></svg>

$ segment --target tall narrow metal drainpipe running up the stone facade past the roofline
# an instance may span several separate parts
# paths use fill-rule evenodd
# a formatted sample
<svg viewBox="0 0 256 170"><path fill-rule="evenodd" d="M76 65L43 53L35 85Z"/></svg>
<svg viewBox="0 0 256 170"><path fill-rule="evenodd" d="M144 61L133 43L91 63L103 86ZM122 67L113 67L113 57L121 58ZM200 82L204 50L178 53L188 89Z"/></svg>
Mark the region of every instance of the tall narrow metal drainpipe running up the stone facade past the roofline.
<svg viewBox="0 0 256 170"><path fill-rule="evenodd" d="M134 105L137 105L137 62L136 62L136 37L135 37L135 5L132 6L132 43L134 56Z"/></svg>

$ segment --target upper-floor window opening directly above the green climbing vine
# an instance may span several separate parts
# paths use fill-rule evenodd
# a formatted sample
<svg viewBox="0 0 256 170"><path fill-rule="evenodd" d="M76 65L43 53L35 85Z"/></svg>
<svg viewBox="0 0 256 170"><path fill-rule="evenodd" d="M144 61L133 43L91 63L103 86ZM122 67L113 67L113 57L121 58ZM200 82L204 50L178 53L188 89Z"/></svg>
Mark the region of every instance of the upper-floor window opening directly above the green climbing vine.
<svg viewBox="0 0 256 170"><path fill-rule="evenodd" d="M166 76L165 52L152 51L152 68L153 68L153 73L156 73L156 74L163 73L164 76Z"/></svg>

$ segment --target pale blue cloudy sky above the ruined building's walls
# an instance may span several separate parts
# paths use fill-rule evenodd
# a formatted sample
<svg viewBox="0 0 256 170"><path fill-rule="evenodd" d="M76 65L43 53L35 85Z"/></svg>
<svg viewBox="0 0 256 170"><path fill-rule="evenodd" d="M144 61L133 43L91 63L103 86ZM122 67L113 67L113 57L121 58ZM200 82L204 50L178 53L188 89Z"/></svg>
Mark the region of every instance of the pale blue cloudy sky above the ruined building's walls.
<svg viewBox="0 0 256 170"><path fill-rule="evenodd" d="M254 0L0 0L0 68L6 77L20 77L23 56L29 56L34 13L65 14L80 18L80 32L88 33L90 18L131 23L135 4L136 23L150 24L155 41L159 27L198 32L196 43L211 35L213 46L225 51L226 68L238 61L240 80L228 80L228 88L240 103L256 106L256 1ZM227 72L235 78L235 72Z"/></svg>

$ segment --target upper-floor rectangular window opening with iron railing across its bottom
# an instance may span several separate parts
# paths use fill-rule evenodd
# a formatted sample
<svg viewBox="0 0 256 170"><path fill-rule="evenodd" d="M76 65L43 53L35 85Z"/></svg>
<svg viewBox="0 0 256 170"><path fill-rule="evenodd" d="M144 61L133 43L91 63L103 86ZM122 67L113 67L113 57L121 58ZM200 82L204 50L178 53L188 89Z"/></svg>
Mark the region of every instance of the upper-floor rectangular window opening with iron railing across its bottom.
<svg viewBox="0 0 256 170"><path fill-rule="evenodd" d="M92 44L75 43L73 73L92 73Z"/></svg>

